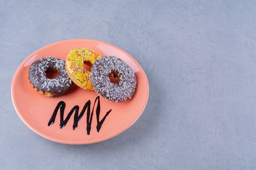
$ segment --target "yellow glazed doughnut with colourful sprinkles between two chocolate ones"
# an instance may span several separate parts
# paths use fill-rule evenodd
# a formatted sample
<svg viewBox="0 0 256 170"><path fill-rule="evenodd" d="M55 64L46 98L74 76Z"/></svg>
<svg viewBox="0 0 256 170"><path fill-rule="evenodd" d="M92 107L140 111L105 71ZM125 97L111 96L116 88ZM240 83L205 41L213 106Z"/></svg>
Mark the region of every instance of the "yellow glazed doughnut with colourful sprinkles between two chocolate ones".
<svg viewBox="0 0 256 170"><path fill-rule="evenodd" d="M83 63L88 62L90 67L92 67L92 64L100 57L100 54L87 48L71 50L66 58L67 75L77 86L85 90L93 90L90 71L85 69Z"/></svg>

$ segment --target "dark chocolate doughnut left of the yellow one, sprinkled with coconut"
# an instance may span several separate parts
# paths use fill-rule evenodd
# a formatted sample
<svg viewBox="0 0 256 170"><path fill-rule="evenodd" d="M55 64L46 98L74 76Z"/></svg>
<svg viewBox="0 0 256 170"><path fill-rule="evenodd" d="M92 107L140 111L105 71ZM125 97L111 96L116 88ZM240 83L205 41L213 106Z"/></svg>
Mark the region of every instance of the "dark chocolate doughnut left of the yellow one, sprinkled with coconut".
<svg viewBox="0 0 256 170"><path fill-rule="evenodd" d="M55 79L46 77L46 71L58 71ZM57 97L65 94L73 85L65 69L65 61L55 57L44 57L32 63L29 68L29 80L36 91L47 96Z"/></svg>

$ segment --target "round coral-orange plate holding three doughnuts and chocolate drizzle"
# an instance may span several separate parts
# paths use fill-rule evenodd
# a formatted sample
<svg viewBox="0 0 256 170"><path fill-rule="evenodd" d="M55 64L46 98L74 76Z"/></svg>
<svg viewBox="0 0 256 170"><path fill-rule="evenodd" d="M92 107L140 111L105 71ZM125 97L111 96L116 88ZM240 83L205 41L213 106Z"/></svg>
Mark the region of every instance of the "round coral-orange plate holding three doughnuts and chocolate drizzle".
<svg viewBox="0 0 256 170"><path fill-rule="evenodd" d="M60 128L60 114L56 116L52 126L48 126L48 121L52 116L54 108L60 101L66 103L64 119L67 113L75 106L79 106L79 113L84 104L91 100L91 110L94 100L98 96L95 91L86 91L78 86L65 95L57 98L45 97L37 93L29 83L28 70L30 65L36 60L54 56L65 60L70 49L87 47L97 53L104 55L114 55L124 60L135 73L137 84L132 98L126 102L115 103L100 98L101 113L100 120L106 112L112 109L104 121L101 129L97 132L97 120L94 109L92 118L92 129L90 135L86 133L86 112L73 130L74 113L64 128ZM18 67L11 84L11 97L13 106L20 119L38 135L46 139L64 144L91 144L110 139L129 128L139 118L148 101L148 79L145 72L137 61L127 52L116 46L97 40L65 40L49 44L29 55ZM96 104L97 105L97 104ZM135 132L136 133L136 132Z"/></svg>

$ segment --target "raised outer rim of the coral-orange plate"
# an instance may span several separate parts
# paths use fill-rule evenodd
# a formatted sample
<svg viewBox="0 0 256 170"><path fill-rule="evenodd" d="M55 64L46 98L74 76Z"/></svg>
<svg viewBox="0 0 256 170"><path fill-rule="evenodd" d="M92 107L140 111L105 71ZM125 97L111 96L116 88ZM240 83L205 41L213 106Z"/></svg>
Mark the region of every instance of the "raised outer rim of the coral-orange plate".
<svg viewBox="0 0 256 170"><path fill-rule="evenodd" d="M40 133L38 132L37 130L35 130L34 128L32 128L25 119L23 119L22 115L20 115L19 111L18 111L18 108L16 107L16 104L15 104L15 101L14 101L14 97L13 97L13 91L14 91L14 84L13 82L15 81L15 79L17 79L17 74L18 74L18 71L22 68L22 66L27 62L27 60L29 60L31 57L33 57L35 55L35 53L37 53L39 50L42 50L42 49L45 49L49 46L53 46L55 44L58 44L58 43L61 43L61 42L70 42L70 41L94 41L94 42L97 42L97 43L101 43L101 44L105 44L105 45L108 45L108 46L111 46L123 53L125 53L128 57L130 57L130 59L135 62L135 64L137 66L140 67L140 71L143 71L144 75L145 75L145 78L146 78L146 86L147 86L147 96L146 96L146 102L144 104L144 108L141 109L141 113L139 113L139 115L131 121L131 123L126 126L125 128L121 128L119 130L117 130L117 132L113 133L112 135L108 135L108 136L105 136L103 138L101 138L100 140L99 139L92 139L92 140L88 140L88 141L67 141L67 140L63 140L63 139L56 139L54 137L48 137L47 135L44 135L43 133ZM35 132L37 135L45 138L45 139L48 139L50 141L54 141L54 142L57 142L57 143L61 143L61 144L72 144L72 145L83 145L83 144L93 144L93 143L99 143L101 141L105 141L105 140L108 140L108 139L111 139L112 137L115 137L117 135L119 135L120 133L124 132L125 130L127 130L128 128L130 128L138 119L139 117L141 116L141 114L143 113L144 109L146 108L146 105L148 103L148 98L149 98L149 84L148 84L148 78L147 78L147 75L145 73L145 71L143 70L143 68L140 66L140 64L129 54L127 53L126 51L124 51L123 49L120 49L119 47L117 46L114 46L112 44L109 44L107 42L103 42L103 41L99 41L99 40L93 40L93 39L69 39L69 40L61 40L61 41L58 41L58 42L54 42L54 43L51 43L51 44L48 44L46 46L43 46L41 47L40 49L37 49L36 51L34 51L33 53L31 53L29 56L27 56L21 63L20 65L18 66L18 68L16 69L15 71L15 74L13 75L13 78L12 78L12 81L11 81L11 101L12 101L12 104L13 104L13 107L17 113L17 115L20 117L20 119L23 121L23 123L29 128L31 129L33 132Z"/></svg>

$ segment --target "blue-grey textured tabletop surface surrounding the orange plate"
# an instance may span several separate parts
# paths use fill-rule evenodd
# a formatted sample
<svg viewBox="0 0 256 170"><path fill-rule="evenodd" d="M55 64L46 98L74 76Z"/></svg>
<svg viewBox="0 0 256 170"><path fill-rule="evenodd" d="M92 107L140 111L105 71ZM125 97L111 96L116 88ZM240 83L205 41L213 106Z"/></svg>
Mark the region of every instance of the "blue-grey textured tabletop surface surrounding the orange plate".
<svg viewBox="0 0 256 170"><path fill-rule="evenodd" d="M256 169L255 1L0 0L0 169ZM29 130L11 79L32 52L66 39L124 49L150 97L128 130L71 146Z"/></svg>

